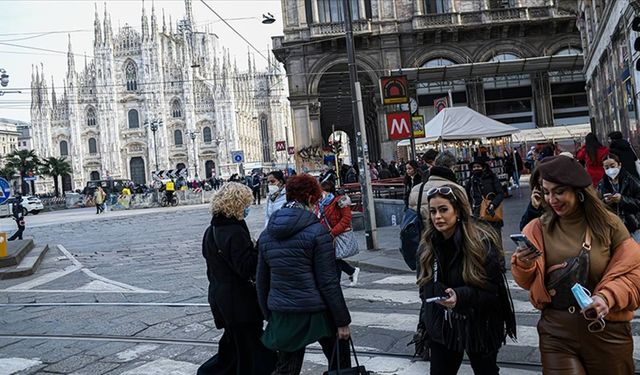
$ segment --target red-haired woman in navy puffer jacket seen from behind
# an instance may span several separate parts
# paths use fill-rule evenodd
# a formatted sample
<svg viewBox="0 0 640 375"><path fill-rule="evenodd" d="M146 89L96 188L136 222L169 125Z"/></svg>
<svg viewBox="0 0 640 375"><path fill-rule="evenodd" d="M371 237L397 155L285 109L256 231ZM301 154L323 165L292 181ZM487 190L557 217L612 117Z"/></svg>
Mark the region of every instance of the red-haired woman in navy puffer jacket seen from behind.
<svg viewBox="0 0 640 375"><path fill-rule="evenodd" d="M274 374L300 374L307 345L319 342L327 360L340 339L340 368L349 368L351 317L336 274L333 238L314 215L322 197L310 175L287 180L287 201L259 240L258 301L269 321L262 342L278 351ZM337 368L338 360L332 363Z"/></svg>

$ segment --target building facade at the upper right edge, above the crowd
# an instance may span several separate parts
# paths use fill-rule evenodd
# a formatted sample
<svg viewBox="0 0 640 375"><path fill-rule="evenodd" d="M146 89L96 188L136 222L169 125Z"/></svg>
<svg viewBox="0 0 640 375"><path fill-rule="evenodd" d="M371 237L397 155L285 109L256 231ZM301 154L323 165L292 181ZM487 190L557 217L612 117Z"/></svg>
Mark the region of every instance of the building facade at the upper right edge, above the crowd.
<svg viewBox="0 0 640 375"><path fill-rule="evenodd" d="M636 63L640 53L634 43L639 33L631 26L634 17L640 16L640 4L580 0L578 11L592 128L603 140L619 130L638 145L640 71Z"/></svg>

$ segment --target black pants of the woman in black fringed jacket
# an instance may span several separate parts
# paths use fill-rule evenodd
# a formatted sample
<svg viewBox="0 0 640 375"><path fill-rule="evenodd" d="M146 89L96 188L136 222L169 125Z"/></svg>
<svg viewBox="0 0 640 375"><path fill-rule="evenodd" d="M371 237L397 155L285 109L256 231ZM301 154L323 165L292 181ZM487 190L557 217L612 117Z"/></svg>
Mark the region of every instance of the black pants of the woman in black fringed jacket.
<svg viewBox="0 0 640 375"><path fill-rule="evenodd" d="M431 375L456 375L462 364L464 352L447 349L436 342L431 343ZM471 368L476 375L497 375L498 351L491 353L467 353Z"/></svg>

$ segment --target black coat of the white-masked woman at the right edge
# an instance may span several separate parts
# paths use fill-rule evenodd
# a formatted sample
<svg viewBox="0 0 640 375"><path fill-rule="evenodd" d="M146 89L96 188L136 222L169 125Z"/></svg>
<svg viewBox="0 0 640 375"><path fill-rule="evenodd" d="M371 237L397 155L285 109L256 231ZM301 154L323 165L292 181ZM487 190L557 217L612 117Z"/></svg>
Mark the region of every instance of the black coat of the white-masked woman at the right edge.
<svg viewBox="0 0 640 375"><path fill-rule="evenodd" d="M614 191L611 179L604 176L598 184L600 195L620 193L620 203L608 205L624 222L630 233L640 229L640 182L625 170L618 175L618 191Z"/></svg>

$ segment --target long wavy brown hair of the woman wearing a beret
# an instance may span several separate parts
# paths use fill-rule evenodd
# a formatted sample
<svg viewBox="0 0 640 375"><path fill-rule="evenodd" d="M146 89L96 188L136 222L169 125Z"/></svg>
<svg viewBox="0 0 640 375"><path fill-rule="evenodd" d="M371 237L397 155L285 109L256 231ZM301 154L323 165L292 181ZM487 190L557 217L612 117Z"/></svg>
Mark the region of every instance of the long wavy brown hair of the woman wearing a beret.
<svg viewBox="0 0 640 375"><path fill-rule="evenodd" d="M577 199L578 209L582 210L587 226L591 233L601 242L606 243L611 234L611 229L615 228L615 222L611 220L611 211L602 203L596 189L589 186L586 189L573 189L575 194L584 196L584 201ZM576 197L577 198L577 197ZM542 221L548 222L549 232L553 232L558 225L560 216L545 202L545 213Z"/></svg>

